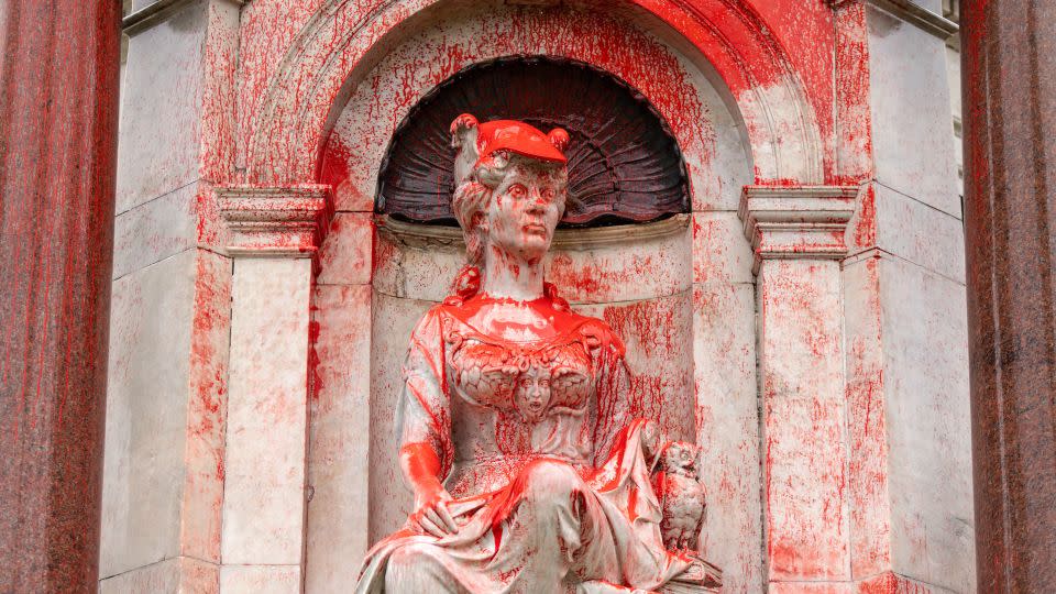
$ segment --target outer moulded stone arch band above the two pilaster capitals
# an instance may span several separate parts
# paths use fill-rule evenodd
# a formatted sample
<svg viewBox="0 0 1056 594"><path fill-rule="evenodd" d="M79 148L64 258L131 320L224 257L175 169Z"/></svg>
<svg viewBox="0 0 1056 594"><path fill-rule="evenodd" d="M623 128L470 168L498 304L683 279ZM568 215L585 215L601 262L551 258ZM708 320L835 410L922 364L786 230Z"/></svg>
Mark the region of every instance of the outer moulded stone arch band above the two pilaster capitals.
<svg viewBox="0 0 1056 594"><path fill-rule="evenodd" d="M243 180L314 180L334 119L372 65L421 22L459 7L449 0L389 0L363 10L350 0L324 1L248 117ZM738 0L705 7L627 0L616 12L686 48L722 82L736 108L732 112L741 119L757 183L824 182L832 164L826 163L814 109L789 56L752 9ZM463 65L458 56L451 59L454 69Z"/></svg>

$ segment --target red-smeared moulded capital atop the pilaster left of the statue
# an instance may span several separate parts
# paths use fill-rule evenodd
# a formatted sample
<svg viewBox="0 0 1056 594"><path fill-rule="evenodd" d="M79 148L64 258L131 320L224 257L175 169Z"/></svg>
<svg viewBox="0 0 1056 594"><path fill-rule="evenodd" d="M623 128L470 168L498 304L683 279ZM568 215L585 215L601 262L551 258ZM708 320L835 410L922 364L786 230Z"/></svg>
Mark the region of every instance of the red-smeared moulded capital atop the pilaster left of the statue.
<svg viewBox="0 0 1056 594"><path fill-rule="evenodd" d="M315 257L333 211L330 186L218 187L224 251L232 256Z"/></svg>

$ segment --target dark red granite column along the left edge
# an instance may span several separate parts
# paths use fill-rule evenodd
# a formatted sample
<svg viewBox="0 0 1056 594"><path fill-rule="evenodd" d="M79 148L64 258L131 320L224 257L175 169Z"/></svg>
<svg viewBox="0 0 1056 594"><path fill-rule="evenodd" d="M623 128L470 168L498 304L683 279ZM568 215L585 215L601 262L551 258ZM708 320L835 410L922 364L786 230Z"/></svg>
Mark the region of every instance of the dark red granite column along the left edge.
<svg viewBox="0 0 1056 594"><path fill-rule="evenodd" d="M96 588L120 16L0 2L0 592Z"/></svg>

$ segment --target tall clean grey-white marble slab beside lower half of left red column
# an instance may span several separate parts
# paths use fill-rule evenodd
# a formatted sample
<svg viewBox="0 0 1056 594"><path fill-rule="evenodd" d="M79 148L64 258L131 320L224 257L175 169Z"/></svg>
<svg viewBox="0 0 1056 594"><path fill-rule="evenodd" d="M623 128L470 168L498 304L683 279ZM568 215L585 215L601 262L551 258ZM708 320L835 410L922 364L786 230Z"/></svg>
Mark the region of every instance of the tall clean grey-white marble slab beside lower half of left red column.
<svg viewBox="0 0 1056 594"><path fill-rule="evenodd" d="M195 252L114 282L99 573L179 554Z"/></svg>

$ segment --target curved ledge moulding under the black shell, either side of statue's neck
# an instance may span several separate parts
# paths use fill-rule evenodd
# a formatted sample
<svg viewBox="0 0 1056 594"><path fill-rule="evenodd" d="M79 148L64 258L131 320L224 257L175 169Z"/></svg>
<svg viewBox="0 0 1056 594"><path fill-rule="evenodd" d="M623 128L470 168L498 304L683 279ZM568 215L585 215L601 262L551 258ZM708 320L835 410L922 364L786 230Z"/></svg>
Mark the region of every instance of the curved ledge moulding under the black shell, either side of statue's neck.
<svg viewBox="0 0 1056 594"><path fill-rule="evenodd" d="M418 249L463 250L462 230L458 227L441 227L399 221L388 216L376 220L377 231L395 241ZM675 215L667 219L648 222L593 227L585 229L558 229L553 234L552 250L587 251L612 245L626 245L645 241L660 240L685 232L690 227L690 215Z"/></svg>

